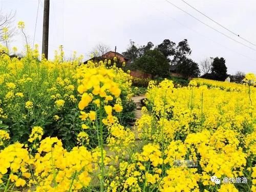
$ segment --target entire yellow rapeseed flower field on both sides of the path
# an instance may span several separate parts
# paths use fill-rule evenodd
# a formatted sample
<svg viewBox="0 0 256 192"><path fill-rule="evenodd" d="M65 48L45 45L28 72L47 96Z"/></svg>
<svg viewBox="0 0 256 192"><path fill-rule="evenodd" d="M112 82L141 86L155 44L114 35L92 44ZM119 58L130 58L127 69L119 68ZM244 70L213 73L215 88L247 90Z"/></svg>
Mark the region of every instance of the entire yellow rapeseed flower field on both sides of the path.
<svg viewBox="0 0 256 192"><path fill-rule="evenodd" d="M151 81L136 138L115 61L0 54L1 191L256 191L256 90ZM128 105L128 106L127 106Z"/></svg>

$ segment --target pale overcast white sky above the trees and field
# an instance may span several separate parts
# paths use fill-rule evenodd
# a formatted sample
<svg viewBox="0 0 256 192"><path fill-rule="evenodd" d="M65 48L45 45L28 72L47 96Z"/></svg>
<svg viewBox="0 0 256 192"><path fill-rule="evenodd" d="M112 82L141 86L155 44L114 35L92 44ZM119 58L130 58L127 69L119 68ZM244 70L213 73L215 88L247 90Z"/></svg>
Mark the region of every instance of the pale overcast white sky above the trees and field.
<svg viewBox="0 0 256 192"><path fill-rule="evenodd" d="M186 38L190 57L200 62L205 57L224 57L229 74L236 71L256 73L256 46L221 28L182 1L171 1L202 22L225 33L249 49L208 28L165 0L50 0L49 57L63 45L66 56L73 51L88 56L102 42L122 53L132 39L138 45L152 41L160 44L168 38L176 43ZM201 12L256 45L256 1L189 1ZM35 43L41 48L44 0L39 1ZM16 11L16 22L25 22L31 44L37 14L37 0L0 1L1 12ZM11 46L22 50L23 38L15 37Z"/></svg>

